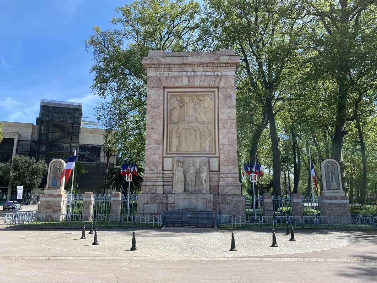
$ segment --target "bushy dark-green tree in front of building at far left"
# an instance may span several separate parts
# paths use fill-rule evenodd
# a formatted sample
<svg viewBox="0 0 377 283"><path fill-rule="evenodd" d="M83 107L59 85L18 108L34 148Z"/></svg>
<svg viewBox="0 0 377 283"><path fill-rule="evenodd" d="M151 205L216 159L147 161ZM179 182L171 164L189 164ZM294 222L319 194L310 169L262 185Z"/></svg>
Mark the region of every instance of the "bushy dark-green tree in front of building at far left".
<svg viewBox="0 0 377 283"><path fill-rule="evenodd" d="M27 189L35 189L42 182L47 170L48 166L44 160L36 162L34 157L15 155L8 163L2 163L0 176L13 188L25 186Z"/></svg>

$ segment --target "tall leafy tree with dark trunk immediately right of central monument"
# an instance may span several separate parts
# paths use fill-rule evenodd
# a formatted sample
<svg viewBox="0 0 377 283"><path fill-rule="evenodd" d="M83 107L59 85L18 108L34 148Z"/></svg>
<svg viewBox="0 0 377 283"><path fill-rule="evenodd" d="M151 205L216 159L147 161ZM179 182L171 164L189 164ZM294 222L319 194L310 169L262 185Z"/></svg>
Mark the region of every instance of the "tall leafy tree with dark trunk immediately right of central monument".
<svg viewBox="0 0 377 283"><path fill-rule="evenodd" d="M256 139L269 125L273 157L273 190L281 194L281 160L276 115L284 109L288 93L286 82L296 71L300 42L307 25L305 9L296 1L220 1L208 0L205 40L214 46L231 46L241 55L240 71L250 93L249 108L255 102L259 121ZM203 21L204 22L204 21ZM255 113L255 111L254 111ZM248 119L249 120L249 119ZM255 149L251 146L251 155ZM251 156L253 158L253 156Z"/></svg>

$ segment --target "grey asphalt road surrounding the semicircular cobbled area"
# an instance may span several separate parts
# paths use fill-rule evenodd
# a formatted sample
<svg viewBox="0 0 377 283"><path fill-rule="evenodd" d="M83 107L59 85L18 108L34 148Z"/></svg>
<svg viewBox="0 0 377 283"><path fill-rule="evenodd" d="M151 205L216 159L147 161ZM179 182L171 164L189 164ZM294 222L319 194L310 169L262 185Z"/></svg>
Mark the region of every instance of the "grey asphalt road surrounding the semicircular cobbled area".
<svg viewBox="0 0 377 283"><path fill-rule="evenodd" d="M377 281L376 231L345 231L356 237L356 241L340 248L248 260L241 257L229 260L130 260L121 256L62 251L29 243L26 237L34 231L0 229L1 282L13 281L11 278L20 282ZM128 245L129 239L126 240ZM236 255L234 252L234 257Z"/></svg>

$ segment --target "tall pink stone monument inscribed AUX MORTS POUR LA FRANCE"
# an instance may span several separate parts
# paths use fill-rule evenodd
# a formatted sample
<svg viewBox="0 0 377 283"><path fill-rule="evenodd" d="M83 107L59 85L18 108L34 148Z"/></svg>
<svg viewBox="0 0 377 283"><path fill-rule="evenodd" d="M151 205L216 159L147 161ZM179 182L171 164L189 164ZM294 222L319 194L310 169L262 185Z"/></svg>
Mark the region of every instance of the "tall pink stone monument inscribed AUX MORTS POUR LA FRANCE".
<svg viewBox="0 0 377 283"><path fill-rule="evenodd" d="M151 50L144 182L138 214L204 210L245 214L237 157L233 49Z"/></svg>

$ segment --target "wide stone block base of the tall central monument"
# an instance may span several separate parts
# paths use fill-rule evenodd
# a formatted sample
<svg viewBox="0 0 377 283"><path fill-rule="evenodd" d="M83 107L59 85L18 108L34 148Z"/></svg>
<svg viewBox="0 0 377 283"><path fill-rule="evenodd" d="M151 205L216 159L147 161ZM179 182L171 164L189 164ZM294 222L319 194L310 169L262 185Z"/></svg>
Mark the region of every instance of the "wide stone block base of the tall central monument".
<svg viewBox="0 0 377 283"><path fill-rule="evenodd" d="M139 194L138 214L166 214L167 210L201 210L245 215L245 197L234 194Z"/></svg>

